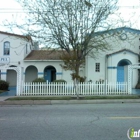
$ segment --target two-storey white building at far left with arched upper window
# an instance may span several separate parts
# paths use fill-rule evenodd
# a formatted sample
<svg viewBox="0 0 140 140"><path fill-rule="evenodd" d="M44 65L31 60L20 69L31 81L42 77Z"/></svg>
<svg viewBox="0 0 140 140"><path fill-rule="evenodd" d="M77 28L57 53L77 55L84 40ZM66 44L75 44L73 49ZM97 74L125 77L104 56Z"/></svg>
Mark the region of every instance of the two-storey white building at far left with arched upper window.
<svg viewBox="0 0 140 140"><path fill-rule="evenodd" d="M24 58L33 50L31 37L0 31L0 67L24 67ZM1 70L1 79L11 86L16 85L17 75L14 70Z"/></svg>

